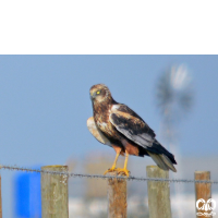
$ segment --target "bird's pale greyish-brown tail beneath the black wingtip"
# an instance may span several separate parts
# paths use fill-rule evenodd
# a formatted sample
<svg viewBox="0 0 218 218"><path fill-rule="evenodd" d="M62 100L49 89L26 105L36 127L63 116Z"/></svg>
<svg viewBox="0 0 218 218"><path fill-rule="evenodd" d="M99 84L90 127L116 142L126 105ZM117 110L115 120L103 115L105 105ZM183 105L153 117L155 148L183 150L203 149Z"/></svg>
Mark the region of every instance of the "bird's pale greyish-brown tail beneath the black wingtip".
<svg viewBox="0 0 218 218"><path fill-rule="evenodd" d="M159 168L161 168L162 170L169 170L170 169L173 172L177 172L177 169L174 168L172 161L166 155L155 154L155 153L150 153L150 152L147 152L147 153L153 158L153 160L157 164L157 166Z"/></svg>

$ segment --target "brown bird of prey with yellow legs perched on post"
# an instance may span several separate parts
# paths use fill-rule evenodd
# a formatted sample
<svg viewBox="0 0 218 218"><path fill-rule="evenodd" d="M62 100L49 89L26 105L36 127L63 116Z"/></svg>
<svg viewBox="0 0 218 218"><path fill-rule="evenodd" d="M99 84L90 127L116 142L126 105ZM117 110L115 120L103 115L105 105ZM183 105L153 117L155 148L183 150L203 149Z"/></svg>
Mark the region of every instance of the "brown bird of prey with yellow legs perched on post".
<svg viewBox="0 0 218 218"><path fill-rule="evenodd" d="M140 157L150 156L157 166L164 170L177 172L174 156L155 138L154 131L132 109L117 102L104 84L90 87L93 117L87 120L89 132L100 143L109 145L116 153L116 160L106 173L117 171L130 175L128 170L129 155ZM116 168L118 157L125 155L124 168Z"/></svg>

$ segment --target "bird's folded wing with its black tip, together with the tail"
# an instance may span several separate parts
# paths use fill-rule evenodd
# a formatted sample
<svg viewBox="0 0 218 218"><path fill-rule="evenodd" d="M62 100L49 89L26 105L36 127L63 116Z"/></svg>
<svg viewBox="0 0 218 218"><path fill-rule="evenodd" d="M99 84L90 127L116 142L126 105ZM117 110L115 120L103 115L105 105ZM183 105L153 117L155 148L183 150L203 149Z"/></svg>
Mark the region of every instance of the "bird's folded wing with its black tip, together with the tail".
<svg viewBox="0 0 218 218"><path fill-rule="evenodd" d="M177 164L174 156L159 144L155 138L154 131L128 106L114 105L109 120L125 137L144 147L161 169L171 169L177 172L177 169L173 167Z"/></svg>

